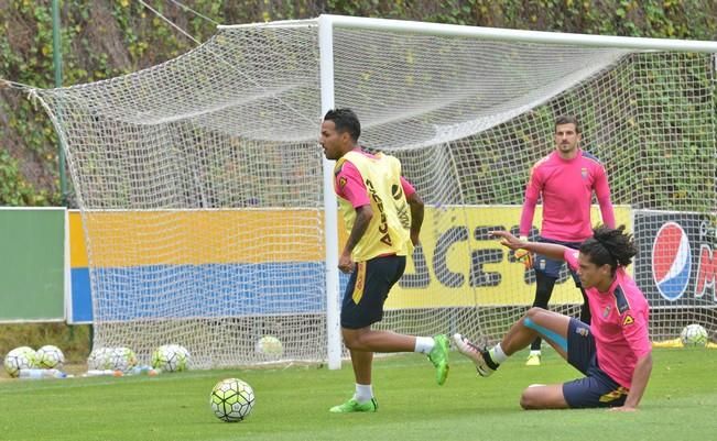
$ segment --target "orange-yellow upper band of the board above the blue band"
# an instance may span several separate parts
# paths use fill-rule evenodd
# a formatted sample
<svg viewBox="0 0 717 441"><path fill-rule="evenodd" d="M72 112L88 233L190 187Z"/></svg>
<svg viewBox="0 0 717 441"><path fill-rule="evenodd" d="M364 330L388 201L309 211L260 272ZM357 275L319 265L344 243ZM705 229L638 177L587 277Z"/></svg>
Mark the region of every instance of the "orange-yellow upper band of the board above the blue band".
<svg viewBox="0 0 717 441"><path fill-rule="evenodd" d="M323 220L317 209L72 212L70 262L87 266L88 252L94 267L317 262Z"/></svg>

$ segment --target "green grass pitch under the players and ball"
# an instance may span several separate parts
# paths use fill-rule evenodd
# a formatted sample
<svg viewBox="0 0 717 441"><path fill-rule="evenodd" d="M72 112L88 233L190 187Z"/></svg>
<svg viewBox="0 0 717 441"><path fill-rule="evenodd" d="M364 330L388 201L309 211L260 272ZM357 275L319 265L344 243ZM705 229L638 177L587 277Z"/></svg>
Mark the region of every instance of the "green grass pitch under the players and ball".
<svg viewBox="0 0 717 441"><path fill-rule="evenodd" d="M0 383L0 440L710 440L717 437L717 351L655 350L641 410L524 411L518 400L533 383L578 377L555 353L541 367L523 354L490 378L478 378L453 353L439 387L425 357L377 361L378 414L330 415L354 392L349 365L197 371L157 377L94 377ZM216 382L240 377L257 403L243 422L209 409Z"/></svg>

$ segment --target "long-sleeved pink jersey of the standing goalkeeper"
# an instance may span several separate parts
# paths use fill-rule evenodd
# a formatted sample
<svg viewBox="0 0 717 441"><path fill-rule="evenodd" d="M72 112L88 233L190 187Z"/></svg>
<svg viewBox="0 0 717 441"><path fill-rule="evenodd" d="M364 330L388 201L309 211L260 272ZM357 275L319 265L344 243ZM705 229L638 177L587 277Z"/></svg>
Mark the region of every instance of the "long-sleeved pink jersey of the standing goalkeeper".
<svg viewBox="0 0 717 441"><path fill-rule="evenodd" d="M535 205L542 196L541 236L564 242L583 242L590 238L593 190L600 205L602 223L615 228L610 188L605 168L598 159L582 150L572 159L563 159L557 152L551 153L531 169L520 218L520 234L526 236L530 233Z"/></svg>

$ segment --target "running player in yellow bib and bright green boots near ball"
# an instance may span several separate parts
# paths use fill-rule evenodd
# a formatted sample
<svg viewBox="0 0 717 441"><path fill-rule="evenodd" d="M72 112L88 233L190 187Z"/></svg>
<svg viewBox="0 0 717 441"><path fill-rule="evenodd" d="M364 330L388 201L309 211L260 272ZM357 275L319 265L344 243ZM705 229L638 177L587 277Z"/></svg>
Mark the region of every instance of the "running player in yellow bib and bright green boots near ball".
<svg viewBox="0 0 717 441"><path fill-rule="evenodd" d="M448 375L448 338L412 337L372 330L383 318L383 304L405 269L406 254L419 244L423 201L401 176L393 156L370 154L358 145L359 120L350 109L329 110L322 123L321 145L336 161L334 188L348 240L338 261L351 274L341 305L341 335L349 349L356 393L332 412L376 411L371 387L374 352L421 352L443 385Z"/></svg>

